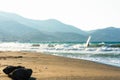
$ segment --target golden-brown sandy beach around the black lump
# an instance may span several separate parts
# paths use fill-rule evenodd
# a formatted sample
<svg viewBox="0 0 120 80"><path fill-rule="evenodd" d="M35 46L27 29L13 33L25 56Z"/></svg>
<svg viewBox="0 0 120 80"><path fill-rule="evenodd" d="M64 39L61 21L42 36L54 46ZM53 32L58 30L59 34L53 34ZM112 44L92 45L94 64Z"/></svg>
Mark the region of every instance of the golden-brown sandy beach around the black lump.
<svg viewBox="0 0 120 80"><path fill-rule="evenodd" d="M31 68L30 80L120 80L118 67L35 52L0 52L0 80L9 65Z"/></svg>

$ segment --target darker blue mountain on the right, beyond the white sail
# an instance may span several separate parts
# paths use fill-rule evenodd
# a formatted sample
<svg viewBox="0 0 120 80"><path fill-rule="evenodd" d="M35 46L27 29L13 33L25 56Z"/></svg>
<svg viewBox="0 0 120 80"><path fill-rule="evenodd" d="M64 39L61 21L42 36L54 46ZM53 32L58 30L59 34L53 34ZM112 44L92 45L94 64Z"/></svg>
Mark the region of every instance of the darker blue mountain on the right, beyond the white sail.
<svg viewBox="0 0 120 80"><path fill-rule="evenodd" d="M120 42L120 28L107 27L104 29L98 29L91 31L91 41L93 42Z"/></svg>

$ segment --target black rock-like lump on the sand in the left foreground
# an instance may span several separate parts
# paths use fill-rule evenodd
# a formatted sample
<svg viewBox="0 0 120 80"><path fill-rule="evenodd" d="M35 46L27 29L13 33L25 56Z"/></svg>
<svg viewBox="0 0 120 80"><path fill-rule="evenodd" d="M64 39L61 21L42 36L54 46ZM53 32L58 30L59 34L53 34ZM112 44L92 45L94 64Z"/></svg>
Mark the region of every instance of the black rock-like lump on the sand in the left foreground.
<svg viewBox="0 0 120 80"><path fill-rule="evenodd" d="M3 72L13 80L29 80L32 75L32 69L23 66L7 66Z"/></svg>

